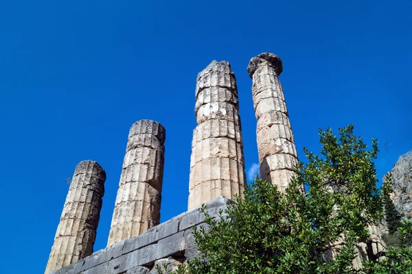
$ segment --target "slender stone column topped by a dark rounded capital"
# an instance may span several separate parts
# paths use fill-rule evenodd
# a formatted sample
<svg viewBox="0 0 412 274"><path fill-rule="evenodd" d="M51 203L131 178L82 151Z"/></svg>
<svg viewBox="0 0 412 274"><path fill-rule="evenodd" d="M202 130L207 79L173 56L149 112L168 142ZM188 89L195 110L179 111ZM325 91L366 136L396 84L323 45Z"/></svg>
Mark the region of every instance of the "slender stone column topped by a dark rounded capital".
<svg viewBox="0 0 412 274"><path fill-rule="evenodd" d="M284 192L295 174L293 170L298 160L282 84L278 78L282 70L282 60L268 52L252 58L247 67L253 80L253 106L258 119L256 135L260 176Z"/></svg>

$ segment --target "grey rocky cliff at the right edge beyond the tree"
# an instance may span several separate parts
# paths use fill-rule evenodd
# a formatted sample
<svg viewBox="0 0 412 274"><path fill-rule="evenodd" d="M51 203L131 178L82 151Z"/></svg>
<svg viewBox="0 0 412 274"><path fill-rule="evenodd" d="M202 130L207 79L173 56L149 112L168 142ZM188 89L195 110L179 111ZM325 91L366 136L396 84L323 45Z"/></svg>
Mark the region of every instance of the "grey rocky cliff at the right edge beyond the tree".
<svg viewBox="0 0 412 274"><path fill-rule="evenodd" d="M399 157L391 173L393 204L402 218L412 219L412 150Z"/></svg>

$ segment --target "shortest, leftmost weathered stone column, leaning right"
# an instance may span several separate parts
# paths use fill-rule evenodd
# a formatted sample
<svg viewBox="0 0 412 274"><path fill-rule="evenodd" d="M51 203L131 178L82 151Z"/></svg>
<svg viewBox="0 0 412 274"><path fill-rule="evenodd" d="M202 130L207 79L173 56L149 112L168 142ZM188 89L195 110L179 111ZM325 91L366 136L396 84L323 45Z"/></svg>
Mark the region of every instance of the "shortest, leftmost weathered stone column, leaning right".
<svg viewBox="0 0 412 274"><path fill-rule="evenodd" d="M93 253L104 181L106 172L95 161L81 161L76 166L45 273Z"/></svg>

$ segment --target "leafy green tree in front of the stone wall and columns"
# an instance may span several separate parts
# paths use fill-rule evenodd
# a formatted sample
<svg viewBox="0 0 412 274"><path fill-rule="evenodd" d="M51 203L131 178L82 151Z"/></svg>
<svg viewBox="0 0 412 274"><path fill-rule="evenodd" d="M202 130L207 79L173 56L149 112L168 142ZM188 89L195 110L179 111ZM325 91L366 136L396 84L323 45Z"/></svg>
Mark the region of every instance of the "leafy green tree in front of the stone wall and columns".
<svg viewBox="0 0 412 274"><path fill-rule="evenodd" d="M405 246L402 258L391 249L386 261L370 258L366 272L353 269L356 244L370 241L367 227L384 212L374 166L378 143L373 139L368 149L353 129L340 128L339 137L319 130L320 155L304 149L308 161L298 164L286 193L256 178L219 218L203 207L207 229L194 229L201 253L177 273L373 273L393 257L410 260Z"/></svg>

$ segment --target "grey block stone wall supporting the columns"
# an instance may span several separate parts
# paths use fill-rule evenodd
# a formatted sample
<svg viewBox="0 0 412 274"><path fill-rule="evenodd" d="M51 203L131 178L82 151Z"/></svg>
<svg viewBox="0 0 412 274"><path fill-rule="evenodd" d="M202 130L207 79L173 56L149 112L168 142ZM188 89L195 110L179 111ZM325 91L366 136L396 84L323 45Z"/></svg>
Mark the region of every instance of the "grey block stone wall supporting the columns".
<svg viewBox="0 0 412 274"><path fill-rule="evenodd" d="M206 203L207 212L217 216L231 200L218 197ZM192 227L202 225L205 216L198 208L152 227L135 238L117 242L52 274L153 274L155 264L169 270L197 255Z"/></svg>

